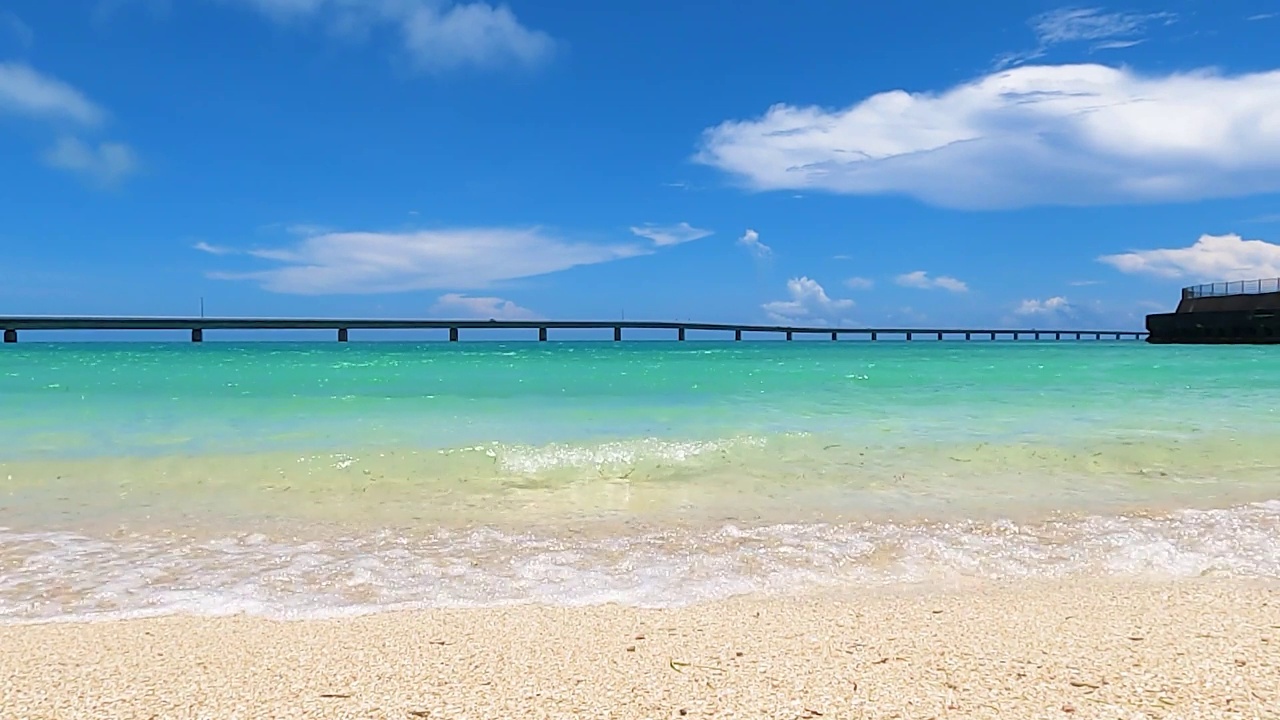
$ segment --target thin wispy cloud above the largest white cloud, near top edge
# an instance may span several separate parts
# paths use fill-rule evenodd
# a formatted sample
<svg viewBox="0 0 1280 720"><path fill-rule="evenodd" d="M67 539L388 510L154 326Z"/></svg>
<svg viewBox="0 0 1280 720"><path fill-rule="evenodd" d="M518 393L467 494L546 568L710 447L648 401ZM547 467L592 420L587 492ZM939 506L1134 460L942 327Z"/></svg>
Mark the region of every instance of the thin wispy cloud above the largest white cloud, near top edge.
<svg viewBox="0 0 1280 720"><path fill-rule="evenodd" d="M1172 13L1107 13L1101 8L1060 8L1041 13L1028 20L1036 35L1036 47L1007 53L996 59L996 67L1007 68L1043 58L1056 45L1092 42L1093 50L1132 47L1143 41L1142 35L1153 23L1169 24L1178 19Z"/></svg>

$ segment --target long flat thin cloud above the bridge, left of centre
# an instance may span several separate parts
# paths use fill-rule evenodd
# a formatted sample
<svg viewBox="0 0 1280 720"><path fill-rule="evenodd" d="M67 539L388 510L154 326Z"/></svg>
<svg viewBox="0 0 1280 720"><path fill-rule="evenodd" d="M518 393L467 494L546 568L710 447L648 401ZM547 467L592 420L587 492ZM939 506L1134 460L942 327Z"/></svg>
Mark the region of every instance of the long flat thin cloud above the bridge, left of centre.
<svg viewBox="0 0 1280 720"><path fill-rule="evenodd" d="M246 252L280 268L210 277L255 281L271 292L297 295L470 290L649 252L639 245L570 242L539 229L335 232Z"/></svg>

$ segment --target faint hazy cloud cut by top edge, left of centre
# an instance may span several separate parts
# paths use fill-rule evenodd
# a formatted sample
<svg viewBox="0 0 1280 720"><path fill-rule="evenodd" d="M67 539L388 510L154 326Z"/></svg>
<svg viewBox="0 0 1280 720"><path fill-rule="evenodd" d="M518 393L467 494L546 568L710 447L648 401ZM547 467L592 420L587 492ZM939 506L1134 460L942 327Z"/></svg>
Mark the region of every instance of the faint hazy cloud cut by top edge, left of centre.
<svg viewBox="0 0 1280 720"><path fill-rule="evenodd" d="M556 42L520 23L507 5L445 0L225 0L284 23L317 19L349 37L390 28L422 69L536 64Z"/></svg>

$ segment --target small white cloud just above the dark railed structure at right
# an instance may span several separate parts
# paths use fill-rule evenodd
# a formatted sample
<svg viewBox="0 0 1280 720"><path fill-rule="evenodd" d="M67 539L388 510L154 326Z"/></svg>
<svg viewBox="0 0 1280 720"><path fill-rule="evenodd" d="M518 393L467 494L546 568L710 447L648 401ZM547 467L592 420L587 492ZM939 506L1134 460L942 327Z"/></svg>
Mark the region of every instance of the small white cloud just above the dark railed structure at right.
<svg viewBox="0 0 1280 720"><path fill-rule="evenodd" d="M1238 234L1202 234L1190 247L1134 250L1098 260L1121 273L1199 282L1280 277L1280 245Z"/></svg>

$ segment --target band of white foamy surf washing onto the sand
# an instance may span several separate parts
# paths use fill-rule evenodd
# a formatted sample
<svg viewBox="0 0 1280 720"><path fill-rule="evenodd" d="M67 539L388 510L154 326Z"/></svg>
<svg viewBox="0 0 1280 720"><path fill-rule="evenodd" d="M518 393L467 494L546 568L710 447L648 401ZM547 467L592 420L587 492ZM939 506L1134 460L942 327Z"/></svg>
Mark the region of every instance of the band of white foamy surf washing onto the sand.
<svg viewBox="0 0 1280 720"><path fill-rule="evenodd" d="M581 534L492 528L196 541L0 529L0 623L617 602L669 607L742 593L956 577L1280 578L1280 501L1158 518L1034 525L724 525Z"/></svg>

